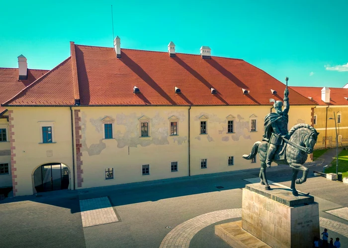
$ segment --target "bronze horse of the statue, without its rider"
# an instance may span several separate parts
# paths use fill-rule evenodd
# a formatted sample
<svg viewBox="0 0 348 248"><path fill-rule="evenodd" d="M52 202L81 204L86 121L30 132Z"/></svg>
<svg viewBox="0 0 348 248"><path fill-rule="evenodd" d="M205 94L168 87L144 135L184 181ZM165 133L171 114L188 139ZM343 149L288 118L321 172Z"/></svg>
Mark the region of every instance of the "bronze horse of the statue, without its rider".
<svg viewBox="0 0 348 248"><path fill-rule="evenodd" d="M304 183L307 180L308 168L303 164L306 162L308 154L313 153L314 145L317 143L319 133L314 127L308 124L297 124L289 131L289 142L284 144L285 157L284 160L273 160L276 164L290 165L292 168L291 189L295 196L298 196L298 192L295 188L295 182L297 184ZM290 145L293 143L293 145ZM296 147L297 146L297 147ZM266 154L268 143L265 141L258 141L254 144L252 152L249 155L243 155L246 160L254 159L259 153L261 161L260 180L261 184L265 185L265 189L269 190L270 187L266 178ZM302 177L297 179L298 172L302 170Z"/></svg>

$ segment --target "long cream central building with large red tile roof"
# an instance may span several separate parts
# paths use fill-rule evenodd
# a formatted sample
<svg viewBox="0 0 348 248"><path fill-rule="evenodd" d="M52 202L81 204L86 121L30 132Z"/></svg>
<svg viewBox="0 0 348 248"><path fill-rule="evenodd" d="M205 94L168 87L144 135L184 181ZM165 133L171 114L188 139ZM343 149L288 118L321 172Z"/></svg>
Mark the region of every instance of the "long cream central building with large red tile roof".
<svg viewBox="0 0 348 248"><path fill-rule="evenodd" d="M260 166L242 155L286 87L261 69L207 46L177 53L173 42L168 52L123 49L119 37L70 50L1 98L14 195ZM318 103L292 88L289 99L289 127L311 123Z"/></svg>

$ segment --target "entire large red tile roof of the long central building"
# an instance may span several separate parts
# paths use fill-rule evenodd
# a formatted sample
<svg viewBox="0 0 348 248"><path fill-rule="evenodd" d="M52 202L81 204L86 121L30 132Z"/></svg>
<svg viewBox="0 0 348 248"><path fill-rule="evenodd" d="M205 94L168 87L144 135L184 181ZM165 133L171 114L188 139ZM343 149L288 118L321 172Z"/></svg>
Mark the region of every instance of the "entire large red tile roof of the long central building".
<svg viewBox="0 0 348 248"><path fill-rule="evenodd" d="M86 106L270 105L269 98L282 99L285 89L283 83L240 59L212 56L203 60L200 55L181 53L169 57L167 52L132 49L121 49L118 59L114 48L73 42L71 55L7 104L74 105L74 98L80 97L81 105ZM140 94L133 93L134 86ZM175 94L174 87L182 93ZM211 94L211 87L217 94ZM242 88L250 93L244 95ZM278 95L272 95L270 89ZM291 88L289 91L290 104L315 105Z"/></svg>

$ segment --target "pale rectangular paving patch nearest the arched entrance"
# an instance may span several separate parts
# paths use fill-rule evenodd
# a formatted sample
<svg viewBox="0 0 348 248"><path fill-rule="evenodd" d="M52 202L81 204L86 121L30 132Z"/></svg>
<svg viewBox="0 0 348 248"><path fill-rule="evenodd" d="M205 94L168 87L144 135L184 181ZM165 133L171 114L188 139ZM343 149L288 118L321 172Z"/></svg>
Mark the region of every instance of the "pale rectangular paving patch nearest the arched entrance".
<svg viewBox="0 0 348 248"><path fill-rule="evenodd" d="M80 200L83 227L118 222L118 218L107 197Z"/></svg>

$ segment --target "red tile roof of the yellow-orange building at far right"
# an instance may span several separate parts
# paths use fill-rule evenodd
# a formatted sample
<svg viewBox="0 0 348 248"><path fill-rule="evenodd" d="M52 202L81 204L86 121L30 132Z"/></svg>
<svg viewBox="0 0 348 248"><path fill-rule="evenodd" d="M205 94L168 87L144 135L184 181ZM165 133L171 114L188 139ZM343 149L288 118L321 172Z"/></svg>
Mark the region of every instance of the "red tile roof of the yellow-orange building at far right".
<svg viewBox="0 0 348 248"><path fill-rule="evenodd" d="M319 105L348 105L348 88L331 88L330 87L330 103L325 103L322 100L322 88L323 87L301 87L291 86L305 97L313 97L313 101Z"/></svg>

